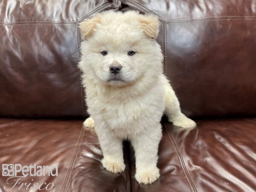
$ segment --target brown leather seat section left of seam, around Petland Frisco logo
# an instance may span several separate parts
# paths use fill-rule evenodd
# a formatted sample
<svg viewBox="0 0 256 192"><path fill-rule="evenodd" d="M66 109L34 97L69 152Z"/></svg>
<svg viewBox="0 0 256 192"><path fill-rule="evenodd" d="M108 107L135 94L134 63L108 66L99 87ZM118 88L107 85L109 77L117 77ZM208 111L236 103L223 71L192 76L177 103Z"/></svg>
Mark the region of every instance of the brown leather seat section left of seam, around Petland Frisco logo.
<svg viewBox="0 0 256 192"><path fill-rule="evenodd" d="M9 177L2 176L2 164L21 164L29 166L53 165L58 163L56 177L23 177L22 183L54 183L54 190L61 191L73 156L81 139L81 120L35 120L35 119L0 119L0 191L24 192L26 186L7 184ZM33 180L32 180L33 179ZM17 180L17 178L16 178ZM13 183L11 179L8 183ZM4 188L5 187L5 188ZM42 185L42 189L45 185ZM19 189L20 188L20 189ZM6 189L6 190L5 190ZM38 191L38 190L37 190ZM47 191L47 190L44 190Z"/></svg>

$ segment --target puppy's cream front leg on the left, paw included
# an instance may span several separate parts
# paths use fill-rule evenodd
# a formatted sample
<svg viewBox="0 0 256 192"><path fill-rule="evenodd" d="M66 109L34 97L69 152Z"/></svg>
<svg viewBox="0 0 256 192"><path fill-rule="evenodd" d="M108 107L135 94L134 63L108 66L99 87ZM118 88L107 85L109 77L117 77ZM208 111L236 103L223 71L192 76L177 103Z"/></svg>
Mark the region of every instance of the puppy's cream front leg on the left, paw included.
<svg viewBox="0 0 256 192"><path fill-rule="evenodd" d="M99 133L98 133L99 132ZM102 149L102 165L113 173L121 173L125 170L123 159L122 140L108 131L96 131L99 144Z"/></svg>

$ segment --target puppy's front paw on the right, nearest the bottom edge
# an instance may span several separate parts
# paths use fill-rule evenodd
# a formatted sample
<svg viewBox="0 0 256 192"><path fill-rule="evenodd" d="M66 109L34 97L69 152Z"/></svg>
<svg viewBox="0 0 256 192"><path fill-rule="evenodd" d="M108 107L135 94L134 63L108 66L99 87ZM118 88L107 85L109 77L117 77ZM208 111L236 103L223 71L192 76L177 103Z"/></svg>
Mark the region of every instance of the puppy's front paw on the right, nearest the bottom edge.
<svg viewBox="0 0 256 192"><path fill-rule="evenodd" d="M148 184L153 183L160 177L159 169L155 167L153 170L143 170L136 172L135 178L139 183Z"/></svg>

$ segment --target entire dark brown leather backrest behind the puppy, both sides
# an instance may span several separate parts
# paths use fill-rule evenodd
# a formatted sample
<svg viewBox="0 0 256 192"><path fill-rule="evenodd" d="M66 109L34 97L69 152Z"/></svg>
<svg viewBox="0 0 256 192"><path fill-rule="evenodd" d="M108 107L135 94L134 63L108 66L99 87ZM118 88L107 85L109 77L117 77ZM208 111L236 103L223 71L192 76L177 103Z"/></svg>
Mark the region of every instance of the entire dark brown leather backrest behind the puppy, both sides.
<svg viewBox="0 0 256 192"><path fill-rule="evenodd" d="M78 24L107 9L160 19L164 71L188 116L256 115L256 2L3 0L0 116L87 116Z"/></svg>

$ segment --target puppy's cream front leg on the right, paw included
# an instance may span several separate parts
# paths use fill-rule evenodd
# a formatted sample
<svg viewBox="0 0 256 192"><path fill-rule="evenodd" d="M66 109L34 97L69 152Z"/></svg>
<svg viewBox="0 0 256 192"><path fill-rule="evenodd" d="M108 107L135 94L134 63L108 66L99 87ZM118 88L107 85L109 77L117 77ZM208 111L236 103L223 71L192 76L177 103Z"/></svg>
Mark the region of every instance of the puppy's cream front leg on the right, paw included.
<svg viewBox="0 0 256 192"><path fill-rule="evenodd" d="M152 126L154 129L139 136L134 136L131 144L135 150L136 174L135 178L139 183L153 183L160 177L157 168L157 151L162 137L160 123Z"/></svg>

